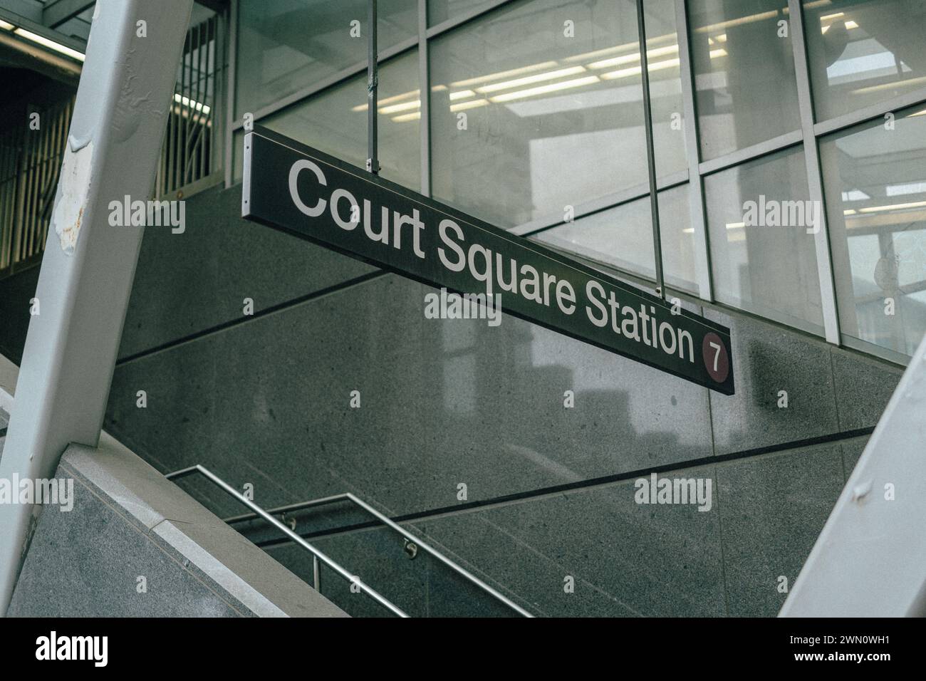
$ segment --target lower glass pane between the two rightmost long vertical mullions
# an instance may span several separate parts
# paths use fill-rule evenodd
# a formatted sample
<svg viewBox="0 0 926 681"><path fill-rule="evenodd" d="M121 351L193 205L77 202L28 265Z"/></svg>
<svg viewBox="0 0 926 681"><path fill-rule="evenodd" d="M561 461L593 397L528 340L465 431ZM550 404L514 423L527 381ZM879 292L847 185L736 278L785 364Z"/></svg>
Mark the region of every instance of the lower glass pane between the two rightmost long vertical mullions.
<svg viewBox="0 0 926 681"><path fill-rule="evenodd" d="M717 299L821 334L820 279L802 147L705 178ZM808 233L810 232L810 233Z"/></svg>

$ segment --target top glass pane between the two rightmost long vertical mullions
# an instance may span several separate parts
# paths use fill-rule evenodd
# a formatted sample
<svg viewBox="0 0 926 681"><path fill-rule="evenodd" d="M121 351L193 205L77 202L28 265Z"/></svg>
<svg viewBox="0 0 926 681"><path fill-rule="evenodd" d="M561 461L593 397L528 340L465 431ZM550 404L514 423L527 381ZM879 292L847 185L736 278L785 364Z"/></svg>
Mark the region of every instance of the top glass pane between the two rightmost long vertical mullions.
<svg viewBox="0 0 926 681"><path fill-rule="evenodd" d="M688 4L702 158L800 129L784 0Z"/></svg>

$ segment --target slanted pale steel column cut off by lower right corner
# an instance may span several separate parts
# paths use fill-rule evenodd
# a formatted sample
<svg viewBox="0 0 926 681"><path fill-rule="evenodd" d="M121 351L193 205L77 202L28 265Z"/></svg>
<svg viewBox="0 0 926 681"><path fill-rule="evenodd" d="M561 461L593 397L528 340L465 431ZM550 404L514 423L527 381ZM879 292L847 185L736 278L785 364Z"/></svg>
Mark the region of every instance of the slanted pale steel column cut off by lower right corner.
<svg viewBox="0 0 926 681"><path fill-rule="evenodd" d="M926 338L887 404L780 617L926 614Z"/></svg>

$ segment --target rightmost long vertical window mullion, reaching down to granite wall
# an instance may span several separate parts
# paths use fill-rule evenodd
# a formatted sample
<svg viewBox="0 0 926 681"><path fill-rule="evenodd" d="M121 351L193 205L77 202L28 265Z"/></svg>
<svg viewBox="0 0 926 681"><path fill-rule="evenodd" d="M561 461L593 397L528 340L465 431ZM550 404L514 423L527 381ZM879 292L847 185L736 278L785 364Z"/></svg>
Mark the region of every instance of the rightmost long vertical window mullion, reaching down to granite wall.
<svg viewBox="0 0 926 681"><path fill-rule="evenodd" d="M830 252L829 228L826 220L823 198L823 179L820 172L820 154L813 127L813 92L807 69L807 49L804 33L804 16L800 0L788 0L791 24L791 46L795 57L797 79L797 105L801 117L801 132L804 134L804 162L807 167L807 188L810 200L820 206L820 230L814 234L817 254L817 273L820 281L820 307L823 314L823 331L826 340L835 345L840 343L839 313L836 307L836 287L833 281L832 254Z"/></svg>

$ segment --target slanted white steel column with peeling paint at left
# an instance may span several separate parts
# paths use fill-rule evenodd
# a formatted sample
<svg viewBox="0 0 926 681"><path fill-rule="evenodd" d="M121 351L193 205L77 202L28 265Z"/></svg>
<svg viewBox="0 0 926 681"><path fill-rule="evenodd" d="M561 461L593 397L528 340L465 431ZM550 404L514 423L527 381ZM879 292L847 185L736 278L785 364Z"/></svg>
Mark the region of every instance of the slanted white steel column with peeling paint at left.
<svg viewBox="0 0 926 681"><path fill-rule="evenodd" d="M111 226L109 205L154 186L192 9L96 3L0 478L50 478L69 443L97 445L144 229ZM0 505L0 613L40 508Z"/></svg>

